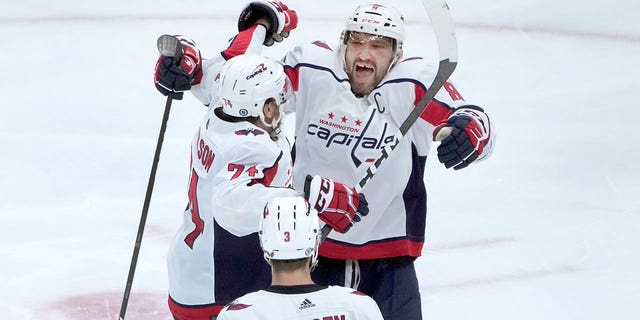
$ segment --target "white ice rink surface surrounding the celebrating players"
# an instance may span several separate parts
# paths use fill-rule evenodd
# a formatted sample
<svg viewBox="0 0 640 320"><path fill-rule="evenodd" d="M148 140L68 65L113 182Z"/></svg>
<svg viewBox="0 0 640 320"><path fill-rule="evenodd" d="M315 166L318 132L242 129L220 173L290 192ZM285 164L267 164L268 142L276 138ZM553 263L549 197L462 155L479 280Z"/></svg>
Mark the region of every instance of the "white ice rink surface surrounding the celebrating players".
<svg viewBox="0 0 640 320"><path fill-rule="evenodd" d="M287 3L301 22L275 58L336 40L356 2ZM419 1L396 3L405 55L435 61ZM117 319L165 103L156 38L212 55L242 3L0 4L0 318ZM640 2L449 4L454 80L498 140L459 172L427 161L424 319L640 319ZM165 257L203 112L173 104L127 319L170 319Z"/></svg>

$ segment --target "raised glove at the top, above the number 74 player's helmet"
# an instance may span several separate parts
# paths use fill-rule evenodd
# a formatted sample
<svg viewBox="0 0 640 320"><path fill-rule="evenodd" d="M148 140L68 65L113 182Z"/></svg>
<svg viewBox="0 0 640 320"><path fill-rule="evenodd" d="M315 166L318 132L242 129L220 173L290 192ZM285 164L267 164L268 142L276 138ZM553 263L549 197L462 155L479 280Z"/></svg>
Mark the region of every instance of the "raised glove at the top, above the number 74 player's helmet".
<svg viewBox="0 0 640 320"><path fill-rule="evenodd" d="M242 9L238 18L238 31L244 31L256 24L258 19L269 21L264 45L271 46L289 36L289 32L298 26L298 14L280 1L253 1Z"/></svg>

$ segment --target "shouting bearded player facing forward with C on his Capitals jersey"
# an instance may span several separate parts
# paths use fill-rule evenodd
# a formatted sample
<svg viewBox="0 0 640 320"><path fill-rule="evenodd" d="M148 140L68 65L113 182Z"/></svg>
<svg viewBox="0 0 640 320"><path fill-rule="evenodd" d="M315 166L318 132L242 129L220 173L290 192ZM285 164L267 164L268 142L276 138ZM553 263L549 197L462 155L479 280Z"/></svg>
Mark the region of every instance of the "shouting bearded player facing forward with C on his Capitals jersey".
<svg viewBox="0 0 640 320"><path fill-rule="evenodd" d="M240 32L267 44L287 21L284 7L251 2L240 15ZM398 10L366 4L348 17L339 43L300 45L283 58L291 85L284 110L296 116L294 188L323 189L326 178L355 185L380 150L394 142L437 71L423 58L406 57L404 40ZM314 280L357 288L378 303L385 319L421 319L414 260L424 245L424 168L431 144L439 141L438 160L459 170L486 159L493 136L483 108L446 82L363 188L369 216L346 233L332 232L320 246ZM322 208L322 201L310 203Z"/></svg>

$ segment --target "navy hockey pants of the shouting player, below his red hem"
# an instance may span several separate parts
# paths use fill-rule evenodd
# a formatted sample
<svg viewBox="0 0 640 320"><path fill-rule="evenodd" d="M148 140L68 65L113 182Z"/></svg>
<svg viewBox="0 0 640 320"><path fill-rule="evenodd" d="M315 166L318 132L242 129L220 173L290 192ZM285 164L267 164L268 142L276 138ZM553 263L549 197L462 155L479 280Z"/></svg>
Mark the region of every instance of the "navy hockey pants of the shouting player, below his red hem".
<svg viewBox="0 0 640 320"><path fill-rule="evenodd" d="M375 260L318 258L312 278L320 285L352 287L376 301L385 320L421 320L418 278L412 257ZM345 283L350 281L352 283ZM359 284L358 284L359 282Z"/></svg>

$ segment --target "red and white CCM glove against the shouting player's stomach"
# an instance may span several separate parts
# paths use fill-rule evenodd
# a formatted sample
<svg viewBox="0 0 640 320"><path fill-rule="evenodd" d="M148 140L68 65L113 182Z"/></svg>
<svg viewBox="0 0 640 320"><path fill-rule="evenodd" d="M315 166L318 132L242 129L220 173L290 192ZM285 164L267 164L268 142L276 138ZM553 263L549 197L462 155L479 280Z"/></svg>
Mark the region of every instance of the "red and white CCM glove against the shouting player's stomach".
<svg viewBox="0 0 640 320"><path fill-rule="evenodd" d="M369 213L364 194L331 179L307 175L304 194L309 204L318 211L320 220L340 233L347 232Z"/></svg>

